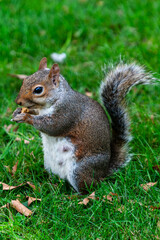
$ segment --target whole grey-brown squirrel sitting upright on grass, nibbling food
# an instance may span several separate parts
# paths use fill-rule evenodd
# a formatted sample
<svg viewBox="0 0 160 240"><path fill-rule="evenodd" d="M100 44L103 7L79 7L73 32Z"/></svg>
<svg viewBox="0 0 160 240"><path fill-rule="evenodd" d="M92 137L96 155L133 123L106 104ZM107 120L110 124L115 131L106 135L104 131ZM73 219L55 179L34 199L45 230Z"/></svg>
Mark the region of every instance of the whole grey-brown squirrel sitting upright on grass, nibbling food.
<svg viewBox="0 0 160 240"><path fill-rule="evenodd" d="M106 75L100 96L107 110L95 100L74 91L60 74L58 64L47 68L42 58L39 69L23 80L12 121L28 123L41 132L44 167L68 180L85 194L129 162L129 120L125 95L138 84L154 78L134 63L118 64Z"/></svg>

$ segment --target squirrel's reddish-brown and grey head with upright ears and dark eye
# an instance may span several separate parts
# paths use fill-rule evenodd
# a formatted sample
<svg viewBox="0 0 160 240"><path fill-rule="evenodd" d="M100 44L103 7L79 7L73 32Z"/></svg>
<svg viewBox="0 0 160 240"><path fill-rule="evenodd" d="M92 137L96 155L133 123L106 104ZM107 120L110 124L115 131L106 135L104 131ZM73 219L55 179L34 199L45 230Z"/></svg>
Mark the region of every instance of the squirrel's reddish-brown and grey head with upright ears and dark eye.
<svg viewBox="0 0 160 240"><path fill-rule="evenodd" d="M42 58L38 71L23 80L16 103L30 109L46 108L59 99L62 89L68 87L58 64L48 69L47 59Z"/></svg>

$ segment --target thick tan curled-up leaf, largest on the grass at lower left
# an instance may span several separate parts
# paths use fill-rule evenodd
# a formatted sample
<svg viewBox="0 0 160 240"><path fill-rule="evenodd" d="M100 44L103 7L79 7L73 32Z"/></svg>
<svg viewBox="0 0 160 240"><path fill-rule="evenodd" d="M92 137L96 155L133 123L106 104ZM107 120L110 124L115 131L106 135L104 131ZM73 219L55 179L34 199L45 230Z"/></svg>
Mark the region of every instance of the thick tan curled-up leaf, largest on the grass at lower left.
<svg viewBox="0 0 160 240"><path fill-rule="evenodd" d="M31 214L33 214L33 212L25 207L18 199L11 200L10 206L26 217L29 217Z"/></svg>

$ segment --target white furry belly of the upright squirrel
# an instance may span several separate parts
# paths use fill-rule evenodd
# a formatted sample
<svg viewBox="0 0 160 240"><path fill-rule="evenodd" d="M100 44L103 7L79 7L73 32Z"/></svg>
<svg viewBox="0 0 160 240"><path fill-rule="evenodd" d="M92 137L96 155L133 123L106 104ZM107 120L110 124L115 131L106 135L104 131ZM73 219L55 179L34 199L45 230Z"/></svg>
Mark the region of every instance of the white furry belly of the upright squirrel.
<svg viewBox="0 0 160 240"><path fill-rule="evenodd" d="M51 137L41 133L44 151L44 167L47 171L67 179L76 189L73 171L76 168L74 145L63 137Z"/></svg>

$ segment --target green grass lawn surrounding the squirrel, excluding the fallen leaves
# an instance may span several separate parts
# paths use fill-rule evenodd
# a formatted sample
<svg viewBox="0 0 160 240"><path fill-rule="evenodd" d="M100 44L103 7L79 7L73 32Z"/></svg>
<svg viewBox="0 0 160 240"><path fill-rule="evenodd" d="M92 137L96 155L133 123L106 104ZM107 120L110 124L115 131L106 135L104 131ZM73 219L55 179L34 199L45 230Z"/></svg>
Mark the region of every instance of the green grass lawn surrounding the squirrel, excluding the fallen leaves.
<svg viewBox="0 0 160 240"><path fill-rule="evenodd" d="M50 67L52 52L67 53L60 65L62 74L74 89L82 93L88 89L95 99L104 64L122 58L159 73L159 12L158 0L0 1L0 181L10 185L31 181L37 187L1 188L0 206L17 199L17 195L25 205L27 195L42 199L30 205L34 211L30 218L11 208L0 209L0 239L147 240L160 235L160 210L150 208L160 203L160 173L152 168L160 161L159 86L137 87L129 94L133 160L101 183L96 189L99 199L87 206L78 204L82 196L69 198L77 194L65 181L45 172L41 140L35 129L15 124L18 131L7 133L4 128L17 107L14 99L21 86L20 80L8 74L31 74L44 56ZM34 140L26 145L15 141L18 136L34 136ZM12 168L17 160L13 177L5 165ZM140 187L156 181L148 192ZM103 201L109 192L118 197L113 202ZM122 213L118 211L121 206Z"/></svg>

